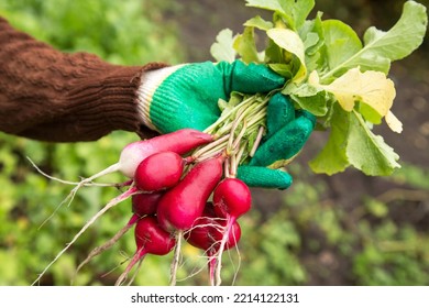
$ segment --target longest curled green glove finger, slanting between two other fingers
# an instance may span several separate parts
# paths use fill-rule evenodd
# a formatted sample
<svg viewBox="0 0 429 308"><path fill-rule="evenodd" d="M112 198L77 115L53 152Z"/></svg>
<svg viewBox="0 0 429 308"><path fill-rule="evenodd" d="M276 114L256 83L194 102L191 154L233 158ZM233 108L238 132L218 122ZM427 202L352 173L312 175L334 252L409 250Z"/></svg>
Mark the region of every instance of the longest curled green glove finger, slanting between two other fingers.
<svg viewBox="0 0 429 308"><path fill-rule="evenodd" d="M288 161L299 153L315 129L316 119L306 111L300 111L297 116L260 145L249 163L250 166L270 166L276 162Z"/></svg>

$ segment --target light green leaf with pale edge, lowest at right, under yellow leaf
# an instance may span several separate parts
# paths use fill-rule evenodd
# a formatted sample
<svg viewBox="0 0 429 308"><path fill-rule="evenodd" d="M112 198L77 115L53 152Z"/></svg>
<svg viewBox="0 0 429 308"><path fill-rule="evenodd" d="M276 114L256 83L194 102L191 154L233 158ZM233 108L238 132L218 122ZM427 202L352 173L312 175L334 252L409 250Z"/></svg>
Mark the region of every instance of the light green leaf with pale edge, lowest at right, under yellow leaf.
<svg viewBox="0 0 429 308"><path fill-rule="evenodd" d="M355 168L366 175L386 176L400 167L399 156L370 130L361 114L353 111L349 119L346 157Z"/></svg>

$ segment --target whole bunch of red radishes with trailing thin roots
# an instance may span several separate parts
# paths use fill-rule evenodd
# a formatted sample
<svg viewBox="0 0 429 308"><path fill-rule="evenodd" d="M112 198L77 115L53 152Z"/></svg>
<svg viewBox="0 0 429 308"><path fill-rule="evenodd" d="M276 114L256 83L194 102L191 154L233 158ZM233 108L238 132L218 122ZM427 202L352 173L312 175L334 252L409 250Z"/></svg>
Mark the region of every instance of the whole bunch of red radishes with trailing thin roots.
<svg viewBox="0 0 429 308"><path fill-rule="evenodd" d="M134 228L136 250L117 285L127 280L130 271L146 254L165 255L172 250L175 251L170 275L174 285L182 239L204 250L210 283L219 285L222 252L235 246L240 240L241 229L237 220L250 209L251 193L243 182L231 175L232 152L227 147L210 151L218 144L217 136L183 129L125 146L117 164L81 180L74 191L113 172L129 177L120 185L128 189L97 212L33 284L98 218L131 198L129 222L111 240L96 248L77 271Z"/></svg>

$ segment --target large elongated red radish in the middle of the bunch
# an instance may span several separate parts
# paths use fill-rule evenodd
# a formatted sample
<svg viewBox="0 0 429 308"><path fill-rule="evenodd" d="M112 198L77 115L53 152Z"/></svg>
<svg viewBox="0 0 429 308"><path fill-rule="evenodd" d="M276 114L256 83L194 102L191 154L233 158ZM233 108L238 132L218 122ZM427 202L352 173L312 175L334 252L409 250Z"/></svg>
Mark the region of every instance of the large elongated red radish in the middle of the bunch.
<svg viewBox="0 0 429 308"><path fill-rule="evenodd" d="M202 215L207 199L222 177L223 156L197 163L161 198L156 216L168 232L186 231Z"/></svg>

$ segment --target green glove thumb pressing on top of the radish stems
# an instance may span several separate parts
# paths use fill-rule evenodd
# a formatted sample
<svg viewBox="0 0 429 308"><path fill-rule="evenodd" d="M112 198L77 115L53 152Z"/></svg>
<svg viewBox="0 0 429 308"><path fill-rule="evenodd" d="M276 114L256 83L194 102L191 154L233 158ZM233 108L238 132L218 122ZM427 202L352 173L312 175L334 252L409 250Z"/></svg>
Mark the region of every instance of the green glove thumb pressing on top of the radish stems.
<svg viewBox="0 0 429 308"><path fill-rule="evenodd" d="M220 62L216 67L224 76L224 91L243 94L268 92L282 88L286 79L263 64L245 64L241 61L233 63Z"/></svg>

